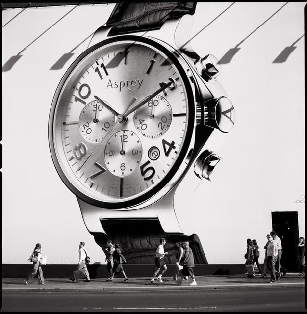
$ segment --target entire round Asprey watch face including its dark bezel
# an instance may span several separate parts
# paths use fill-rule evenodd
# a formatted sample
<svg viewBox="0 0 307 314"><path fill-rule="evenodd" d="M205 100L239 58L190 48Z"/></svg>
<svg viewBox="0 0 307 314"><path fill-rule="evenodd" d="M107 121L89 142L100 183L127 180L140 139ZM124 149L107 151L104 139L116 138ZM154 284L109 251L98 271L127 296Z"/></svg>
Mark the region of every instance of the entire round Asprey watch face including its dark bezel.
<svg viewBox="0 0 307 314"><path fill-rule="evenodd" d="M178 56L143 37L110 38L80 55L61 80L49 120L51 155L84 201L126 208L171 180L194 116Z"/></svg>

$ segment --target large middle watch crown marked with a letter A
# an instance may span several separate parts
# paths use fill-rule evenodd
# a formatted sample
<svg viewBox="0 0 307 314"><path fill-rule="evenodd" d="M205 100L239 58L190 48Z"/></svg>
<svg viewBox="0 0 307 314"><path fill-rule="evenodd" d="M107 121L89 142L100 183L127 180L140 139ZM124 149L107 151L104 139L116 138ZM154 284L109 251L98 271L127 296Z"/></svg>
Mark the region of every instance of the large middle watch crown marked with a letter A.
<svg viewBox="0 0 307 314"><path fill-rule="evenodd" d="M227 97L204 102L204 124L228 133L235 121L235 110Z"/></svg>

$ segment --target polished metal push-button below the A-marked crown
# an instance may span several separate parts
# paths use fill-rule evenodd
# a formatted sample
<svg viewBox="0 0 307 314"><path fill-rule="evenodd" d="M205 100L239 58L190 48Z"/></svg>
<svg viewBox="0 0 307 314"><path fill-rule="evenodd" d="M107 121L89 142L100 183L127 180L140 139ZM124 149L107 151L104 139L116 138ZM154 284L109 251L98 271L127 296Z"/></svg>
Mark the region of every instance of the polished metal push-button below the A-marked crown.
<svg viewBox="0 0 307 314"><path fill-rule="evenodd" d="M217 156L215 153L205 150L194 163L194 173L200 179L211 181L210 175L221 159L222 158Z"/></svg>

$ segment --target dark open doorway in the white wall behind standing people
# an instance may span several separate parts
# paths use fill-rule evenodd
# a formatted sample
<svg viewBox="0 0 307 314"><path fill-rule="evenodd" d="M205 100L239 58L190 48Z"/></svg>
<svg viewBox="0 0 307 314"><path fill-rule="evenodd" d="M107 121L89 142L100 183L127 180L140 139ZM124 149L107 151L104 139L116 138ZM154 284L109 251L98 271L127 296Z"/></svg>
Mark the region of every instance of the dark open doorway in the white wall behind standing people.
<svg viewBox="0 0 307 314"><path fill-rule="evenodd" d="M272 230L281 239L281 265L290 272L298 271L299 225L297 211L272 212Z"/></svg>

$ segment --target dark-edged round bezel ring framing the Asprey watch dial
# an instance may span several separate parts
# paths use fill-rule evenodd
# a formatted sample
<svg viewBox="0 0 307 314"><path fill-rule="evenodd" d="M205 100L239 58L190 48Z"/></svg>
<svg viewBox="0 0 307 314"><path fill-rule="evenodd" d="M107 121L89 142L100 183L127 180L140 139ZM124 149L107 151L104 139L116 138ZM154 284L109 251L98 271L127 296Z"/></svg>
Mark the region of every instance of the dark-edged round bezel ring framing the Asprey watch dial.
<svg viewBox="0 0 307 314"><path fill-rule="evenodd" d="M54 117L55 117L55 109L56 105L58 103L58 98L60 96L60 93L62 91L62 88L67 80L67 78L70 76L70 74L74 71L76 66L83 60L88 54L95 51L96 49L108 45L110 43L114 43L116 41L123 41L123 40L130 40L130 41L136 41L136 42L143 42L145 44L151 45L153 48L158 49L159 51L163 52L167 58L174 64L174 66L178 69L179 74L182 78L182 81L186 88L186 96L187 96L187 103L189 106L189 114L187 118L187 129L186 129L186 135L185 139L182 142L181 149L179 152L179 156L176 158L176 161L172 165L172 167L169 169L168 173L165 175L165 177L157 183L152 189L147 190L143 194L139 196L135 196L133 199L125 200L125 201L117 201L117 202L104 202L97 199L93 199L89 195L84 194L82 191L80 191L65 175L64 171L62 170L62 167L60 165L60 162L58 161L57 154L55 151L55 142L54 142L54 133L53 133L53 126L54 126ZM180 61L179 61L180 60ZM188 78L188 75L186 73L187 70L189 70L190 67L185 62L185 60L180 56L180 54L173 49L171 46L164 47L160 43L156 42L153 39L143 37L143 36L136 36L136 35L121 35L116 37L107 38L97 44L94 44L93 46L89 47L87 50L82 52L76 60L71 64L71 66L68 68L68 70L65 72L63 78L61 79L60 83L57 86L57 89L55 91L55 94L52 99L51 104L51 110L49 114L49 126L48 126L48 138L49 138L49 147L51 151L51 157L53 164L55 166L55 169L57 173L59 174L61 180L63 183L80 199L82 199L84 202L87 202L89 204L92 204L94 206L106 208L106 209L127 209L131 208L133 206L140 205L147 200L151 199L154 195L156 195L160 190L164 189L164 187L170 183L172 178L174 177L175 173L180 168L180 165L182 162L184 162L184 158L187 154L190 141L193 136L194 131L194 121L195 121L195 106L194 106L194 93L191 85L191 81ZM163 197L168 190L165 191L161 197Z"/></svg>

